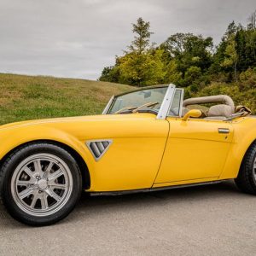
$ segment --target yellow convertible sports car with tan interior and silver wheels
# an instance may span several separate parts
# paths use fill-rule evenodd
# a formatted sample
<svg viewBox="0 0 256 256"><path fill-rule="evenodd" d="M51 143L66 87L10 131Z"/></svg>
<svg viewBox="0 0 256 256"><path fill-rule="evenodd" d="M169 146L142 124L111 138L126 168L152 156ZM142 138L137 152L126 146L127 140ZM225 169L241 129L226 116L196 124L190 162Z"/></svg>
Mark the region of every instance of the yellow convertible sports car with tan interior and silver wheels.
<svg viewBox="0 0 256 256"><path fill-rule="evenodd" d="M203 106L202 106L203 105ZM0 126L0 195L26 224L53 224L91 195L235 178L256 194L256 118L229 96L175 85L113 96L102 115Z"/></svg>

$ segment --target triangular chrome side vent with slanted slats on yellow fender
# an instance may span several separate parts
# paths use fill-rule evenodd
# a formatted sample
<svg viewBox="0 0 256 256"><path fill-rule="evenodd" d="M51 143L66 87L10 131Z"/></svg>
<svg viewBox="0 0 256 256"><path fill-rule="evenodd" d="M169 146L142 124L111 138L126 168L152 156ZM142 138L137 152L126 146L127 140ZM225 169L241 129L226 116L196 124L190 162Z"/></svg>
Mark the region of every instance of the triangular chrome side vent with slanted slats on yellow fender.
<svg viewBox="0 0 256 256"><path fill-rule="evenodd" d="M102 155L107 152L111 143L112 140L95 140L86 142L86 145L90 149L95 160L100 160Z"/></svg>

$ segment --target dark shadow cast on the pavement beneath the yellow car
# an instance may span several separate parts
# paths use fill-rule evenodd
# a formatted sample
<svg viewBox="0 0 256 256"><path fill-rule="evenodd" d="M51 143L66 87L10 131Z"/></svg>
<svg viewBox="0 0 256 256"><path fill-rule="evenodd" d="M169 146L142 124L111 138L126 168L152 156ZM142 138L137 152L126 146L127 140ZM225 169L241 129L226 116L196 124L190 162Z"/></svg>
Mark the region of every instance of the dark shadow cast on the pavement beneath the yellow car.
<svg viewBox="0 0 256 256"><path fill-rule="evenodd" d="M194 186L180 189L166 189L152 192L141 192L128 195L98 195L91 196L82 193L77 207L73 212L57 225L83 221L86 218L93 218L96 214L107 214L111 211L122 212L127 209L144 210L159 207L166 203L172 203L173 207L179 204L186 204L198 201L212 201L218 198L229 199L234 196L247 197L250 195L242 194L235 183L228 181L211 185ZM9 216L3 205L0 205L0 230L23 229L26 225L20 224ZM47 228L47 227L46 227Z"/></svg>

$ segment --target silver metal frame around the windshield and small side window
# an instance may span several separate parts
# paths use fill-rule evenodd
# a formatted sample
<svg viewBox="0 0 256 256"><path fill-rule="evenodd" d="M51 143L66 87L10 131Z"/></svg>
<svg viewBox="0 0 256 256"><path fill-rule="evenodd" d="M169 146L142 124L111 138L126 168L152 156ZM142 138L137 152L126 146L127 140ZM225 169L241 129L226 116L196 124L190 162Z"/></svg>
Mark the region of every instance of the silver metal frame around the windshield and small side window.
<svg viewBox="0 0 256 256"><path fill-rule="evenodd" d="M175 84L169 84L169 85L166 85L166 86L165 85L160 85L159 87L167 87L167 86L168 86L168 88L166 90L166 95L163 99L163 102L160 105L160 110L159 110L159 113L156 116L156 119L166 119L166 117L168 116L169 110L172 106L173 97L174 97L175 91L176 91L176 85ZM144 87L144 88L141 88L140 90L147 90L147 89L154 89L154 88L157 88L157 86L150 86L150 87L148 86L148 88ZM179 108L179 114L178 114L178 117L181 117L182 116L182 107L183 107L183 89L177 88L177 90L182 90L181 100L180 100L180 108ZM137 91L137 90L134 90L134 91ZM125 95L125 94L131 93L131 92L133 92L133 91L122 93L118 96ZM116 97L117 96L112 96L110 98L110 100L109 100L106 108L104 108L102 114L108 114L108 110L109 110L109 108L111 108L113 100Z"/></svg>

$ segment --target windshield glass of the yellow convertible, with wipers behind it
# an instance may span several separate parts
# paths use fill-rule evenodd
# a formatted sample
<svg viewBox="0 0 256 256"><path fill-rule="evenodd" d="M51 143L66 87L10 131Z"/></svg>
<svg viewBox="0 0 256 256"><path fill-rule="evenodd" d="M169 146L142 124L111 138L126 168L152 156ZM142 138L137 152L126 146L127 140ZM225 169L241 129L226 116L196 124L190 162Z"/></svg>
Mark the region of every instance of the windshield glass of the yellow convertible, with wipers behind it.
<svg viewBox="0 0 256 256"><path fill-rule="evenodd" d="M158 112L160 105L166 95L168 87L158 87L145 90L137 90L125 95L116 96L108 113L127 112L130 108L138 108L145 105L140 110ZM152 105L150 105L152 103Z"/></svg>

